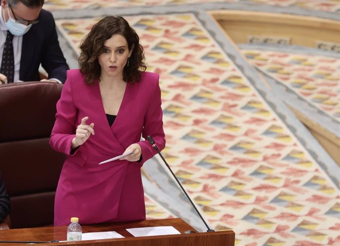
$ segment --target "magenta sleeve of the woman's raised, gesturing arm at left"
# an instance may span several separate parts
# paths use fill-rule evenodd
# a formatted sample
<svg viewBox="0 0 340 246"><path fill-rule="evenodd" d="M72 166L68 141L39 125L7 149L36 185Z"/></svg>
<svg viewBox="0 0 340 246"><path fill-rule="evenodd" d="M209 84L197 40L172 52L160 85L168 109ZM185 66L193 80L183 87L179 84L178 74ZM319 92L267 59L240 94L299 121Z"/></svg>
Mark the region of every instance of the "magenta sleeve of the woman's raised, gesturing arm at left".
<svg viewBox="0 0 340 246"><path fill-rule="evenodd" d="M75 137L77 117L77 109L73 103L72 77L70 74L70 71L68 71L68 79L57 102L56 121L50 137L52 149L64 154L71 154L71 142ZM72 155L75 153L76 151L72 152Z"/></svg>

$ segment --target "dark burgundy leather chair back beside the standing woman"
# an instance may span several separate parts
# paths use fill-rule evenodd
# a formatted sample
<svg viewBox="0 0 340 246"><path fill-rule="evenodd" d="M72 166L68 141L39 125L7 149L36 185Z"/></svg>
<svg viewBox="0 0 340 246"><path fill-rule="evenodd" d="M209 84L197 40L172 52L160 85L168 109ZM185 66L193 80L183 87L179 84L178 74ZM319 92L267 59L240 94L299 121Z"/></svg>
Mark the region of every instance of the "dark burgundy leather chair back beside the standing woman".
<svg viewBox="0 0 340 246"><path fill-rule="evenodd" d="M63 85L0 85L0 172L11 200L12 228L53 224L54 196L65 160L49 146Z"/></svg>

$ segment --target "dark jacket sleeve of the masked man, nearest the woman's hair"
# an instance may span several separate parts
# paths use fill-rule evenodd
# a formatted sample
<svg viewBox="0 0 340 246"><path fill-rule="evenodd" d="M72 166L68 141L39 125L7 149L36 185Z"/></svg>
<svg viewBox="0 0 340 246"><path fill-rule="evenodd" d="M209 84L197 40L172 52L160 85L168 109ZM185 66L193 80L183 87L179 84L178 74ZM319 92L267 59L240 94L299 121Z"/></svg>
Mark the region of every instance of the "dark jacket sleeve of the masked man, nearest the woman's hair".
<svg viewBox="0 0 340 246"><path fill-rule="evenodd" d="M66 72L69 68L59 45L56 24L50 12L44 11L43 14L46 23L50 23L50 31L44 44L45 50L41 54L41 65L47 71L48 78L59 79L65 83Z"/></svg>

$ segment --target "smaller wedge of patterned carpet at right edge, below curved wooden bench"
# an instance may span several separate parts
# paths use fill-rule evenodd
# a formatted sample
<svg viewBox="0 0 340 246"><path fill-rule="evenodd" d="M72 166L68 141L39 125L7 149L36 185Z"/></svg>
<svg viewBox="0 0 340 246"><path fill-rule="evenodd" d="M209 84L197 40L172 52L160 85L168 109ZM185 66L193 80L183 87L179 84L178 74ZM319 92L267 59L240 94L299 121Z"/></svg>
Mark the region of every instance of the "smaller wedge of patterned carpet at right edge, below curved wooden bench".
<svg viewBox="0 0 340 246"><path fill-rule="evenodd" d="M262 50L242 52L253 65L340 122L340 59Z"/></svg>

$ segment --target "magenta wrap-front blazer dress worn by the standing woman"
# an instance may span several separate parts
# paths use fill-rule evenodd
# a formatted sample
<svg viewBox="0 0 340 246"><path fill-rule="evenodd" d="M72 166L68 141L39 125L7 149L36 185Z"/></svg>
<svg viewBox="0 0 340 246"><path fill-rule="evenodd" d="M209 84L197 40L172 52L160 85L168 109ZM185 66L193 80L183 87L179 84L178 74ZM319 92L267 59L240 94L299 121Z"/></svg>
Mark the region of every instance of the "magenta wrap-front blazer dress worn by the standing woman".
<svg viewBox="0 0 340 246"><path fill-rule="evenodd" d="M71 217L80 224L145 219L144 191L140 168L157 154L149 142L152 136L160 150L165 147L159 75L142 72L141 81L128 83L117 117L110 127L99 84L87 85L79 69L68 70L50 145L67 155L54 206L54 225L67 225ZM71 154L71 140L81 119L94 123L95 135ZM140 162L114 160L133 143L142 151Z"/></svg>

